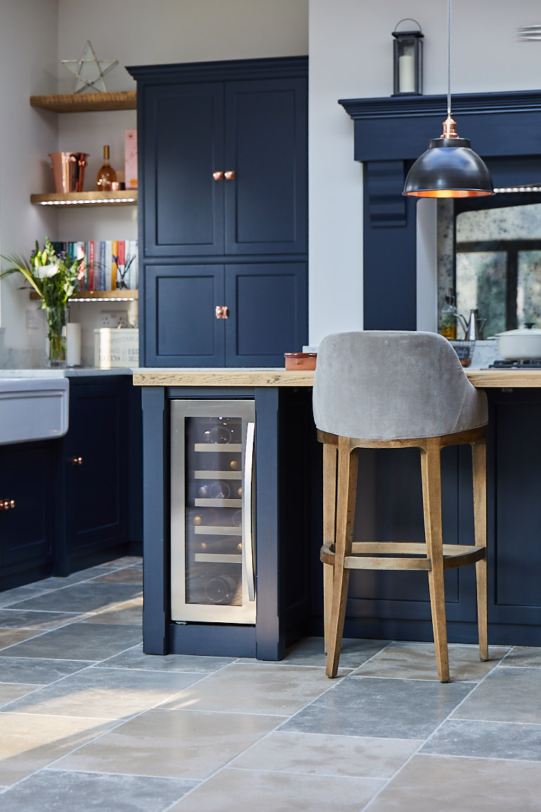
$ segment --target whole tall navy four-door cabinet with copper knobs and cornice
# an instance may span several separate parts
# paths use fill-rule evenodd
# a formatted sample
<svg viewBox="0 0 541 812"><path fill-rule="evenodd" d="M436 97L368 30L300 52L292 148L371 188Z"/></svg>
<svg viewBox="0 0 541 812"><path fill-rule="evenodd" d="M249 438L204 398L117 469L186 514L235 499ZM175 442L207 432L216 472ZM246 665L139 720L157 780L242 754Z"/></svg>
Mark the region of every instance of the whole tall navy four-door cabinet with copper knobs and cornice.
<svg viewBox="0 0 541 812"><path fill-rule="evenodd" d="M283 365L307 343L307 58L129 71L141 364Z"/></svg>

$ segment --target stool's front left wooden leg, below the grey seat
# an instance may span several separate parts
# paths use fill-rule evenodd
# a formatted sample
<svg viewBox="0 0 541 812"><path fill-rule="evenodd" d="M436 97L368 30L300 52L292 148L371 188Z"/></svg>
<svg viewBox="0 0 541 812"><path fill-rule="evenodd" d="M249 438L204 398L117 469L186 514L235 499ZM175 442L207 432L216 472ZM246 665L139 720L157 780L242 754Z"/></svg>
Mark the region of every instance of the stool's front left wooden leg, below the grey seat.
<svg viewBox="0 0 541 812"><path fill-rule="evenodd" d="M337 676L340 659L341 640L346 617L347 588L350 583L350 570L344 567L344 560L351 553L355 499L357 496L358 449L350 450L348 438L338 441L337 471L337 531L334 554L333 596L331 617L328 626L327 667L329 677Z"/></svg>

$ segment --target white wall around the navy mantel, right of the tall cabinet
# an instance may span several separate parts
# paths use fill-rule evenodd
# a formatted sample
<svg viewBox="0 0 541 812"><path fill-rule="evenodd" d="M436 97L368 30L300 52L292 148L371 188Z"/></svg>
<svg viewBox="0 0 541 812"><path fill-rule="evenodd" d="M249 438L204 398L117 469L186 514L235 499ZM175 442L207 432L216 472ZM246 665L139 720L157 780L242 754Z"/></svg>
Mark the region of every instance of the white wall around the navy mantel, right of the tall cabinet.
<svg viewBox="0 0 541 812"><path fill-rule="evenodd" d="M446 93L445 0L310 0L311 344L363 326L362 175L353 160L353 122L337 99L393 93L392 32L405 16L423 28L424 93ZM453 93L538 89L541 41L514 35L532 24L541 24L541 8L531 0L453 0ZM460 119L457 125L467 137ZM438 135L427 132L427 140ZM435 285L435 264L432 274ZM430 302L432 291L419 300L419 326L430 323Z"/></svg>

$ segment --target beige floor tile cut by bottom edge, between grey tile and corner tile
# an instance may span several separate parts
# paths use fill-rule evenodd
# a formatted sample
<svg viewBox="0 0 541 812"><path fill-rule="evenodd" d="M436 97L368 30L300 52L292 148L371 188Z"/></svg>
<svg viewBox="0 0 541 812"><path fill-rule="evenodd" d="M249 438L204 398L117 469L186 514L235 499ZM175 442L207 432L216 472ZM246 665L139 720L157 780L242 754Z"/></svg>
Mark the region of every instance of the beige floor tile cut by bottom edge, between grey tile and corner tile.
<svg viewBox="0 0 541 812"><path fill-rule="evenodd" d="M359 812L382 784L373 778L225 769L178 801L170 812Z"/></svg>

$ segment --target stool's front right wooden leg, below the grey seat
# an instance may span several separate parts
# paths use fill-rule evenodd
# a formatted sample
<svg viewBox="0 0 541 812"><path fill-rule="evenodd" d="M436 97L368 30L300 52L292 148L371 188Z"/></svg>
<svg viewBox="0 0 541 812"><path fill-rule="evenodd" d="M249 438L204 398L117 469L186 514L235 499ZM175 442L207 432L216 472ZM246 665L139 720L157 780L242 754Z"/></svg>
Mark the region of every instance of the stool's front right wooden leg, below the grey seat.
<svg viewBox="0 0 541 812"><path fill-rule="evenodd" d="M428 585L430 588L438 679L440 682L449 682L441 528L441 463L440 442L438 439L428 440L427 446L421 451L421 473L423 476L424 531L427 541L427 555L432 561L432 569L428 571Z"/></svg>

